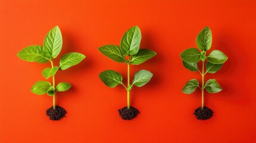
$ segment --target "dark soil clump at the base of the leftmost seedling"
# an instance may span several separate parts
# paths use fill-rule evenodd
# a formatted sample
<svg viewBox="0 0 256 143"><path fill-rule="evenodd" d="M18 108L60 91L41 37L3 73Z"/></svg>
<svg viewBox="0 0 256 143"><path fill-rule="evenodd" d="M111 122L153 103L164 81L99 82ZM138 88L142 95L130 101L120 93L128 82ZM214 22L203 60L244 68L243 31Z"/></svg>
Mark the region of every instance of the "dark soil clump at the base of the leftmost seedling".
<svg viewBox="0 0 256 143"><path fill-rule="evenodd" d="M66 110L60 106L55 106L55 109L53 109L52 106L46 110L46 114L50 117L50 120L60 120L61 118L65 117L66 113Z"/></svg>

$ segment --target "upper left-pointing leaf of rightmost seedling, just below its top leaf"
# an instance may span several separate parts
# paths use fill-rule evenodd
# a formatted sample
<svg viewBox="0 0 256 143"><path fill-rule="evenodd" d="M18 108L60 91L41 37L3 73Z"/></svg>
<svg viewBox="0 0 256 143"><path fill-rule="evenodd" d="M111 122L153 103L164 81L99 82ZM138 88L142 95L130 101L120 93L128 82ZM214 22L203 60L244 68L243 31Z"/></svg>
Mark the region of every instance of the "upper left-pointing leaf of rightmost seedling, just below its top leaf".
<svg viewBox="0 0 256 143"><path fill-rule="evenodd" d="M201 52L196 48L189 48L181 52L180 57L187 63L198 63L201 57Z"/></svg>

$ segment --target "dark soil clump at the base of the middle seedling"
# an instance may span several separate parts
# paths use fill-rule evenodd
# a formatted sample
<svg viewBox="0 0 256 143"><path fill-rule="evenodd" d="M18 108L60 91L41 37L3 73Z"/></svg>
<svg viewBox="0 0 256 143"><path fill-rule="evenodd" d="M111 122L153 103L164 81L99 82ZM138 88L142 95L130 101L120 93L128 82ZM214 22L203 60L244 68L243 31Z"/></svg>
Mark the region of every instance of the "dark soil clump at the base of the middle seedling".
<svg viewBox="0 0 256 143"><path fill-rule="evenodd" d="M131 107L128 109L127 106L121 109L118 109L119 115L124 120L134 119L138 113L140 113L137 108Z"/></svg>

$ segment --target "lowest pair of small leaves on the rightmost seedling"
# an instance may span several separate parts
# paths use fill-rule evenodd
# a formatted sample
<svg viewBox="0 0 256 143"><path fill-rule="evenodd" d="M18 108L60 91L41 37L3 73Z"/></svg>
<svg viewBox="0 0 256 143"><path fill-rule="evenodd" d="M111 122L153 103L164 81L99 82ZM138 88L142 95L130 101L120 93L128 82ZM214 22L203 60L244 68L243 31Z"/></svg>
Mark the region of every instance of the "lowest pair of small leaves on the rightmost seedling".
<svg viewBox="0 0 256 143"><path fill-rule="evenodd" d="M196 79L189 80L186 85L183 87L182 92L184 94L192 94L196 88L199 87L199 82ZM199 87L200 88L200 87ZM222 91L222 88L218 84L218 82L215 79L209 79L206 83L203 89L206 89L211 94L217 93Z"/></svg>

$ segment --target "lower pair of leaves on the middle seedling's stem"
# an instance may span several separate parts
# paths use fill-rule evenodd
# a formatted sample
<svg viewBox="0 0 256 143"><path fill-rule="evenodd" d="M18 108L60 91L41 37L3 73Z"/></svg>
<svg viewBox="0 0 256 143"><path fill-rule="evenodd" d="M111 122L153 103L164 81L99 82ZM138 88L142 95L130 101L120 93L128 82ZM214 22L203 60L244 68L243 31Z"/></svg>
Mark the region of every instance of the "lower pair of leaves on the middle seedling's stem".
<svg viewBox="0 0 256 143"><path fill-rule="evenodd" d="M146 85L149 80L152 78L153 74L148 70L140 70L134 74L134 79L132 80L131 86L135 85L137 87L141 87ZM122 75L113 70L105 70L100 73L100 79L103 83L110 88L115 88L116 85L124 85L122 83ZM128 87L129 88L129 87Z"/></svg>

